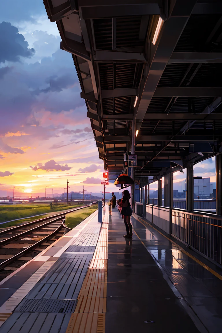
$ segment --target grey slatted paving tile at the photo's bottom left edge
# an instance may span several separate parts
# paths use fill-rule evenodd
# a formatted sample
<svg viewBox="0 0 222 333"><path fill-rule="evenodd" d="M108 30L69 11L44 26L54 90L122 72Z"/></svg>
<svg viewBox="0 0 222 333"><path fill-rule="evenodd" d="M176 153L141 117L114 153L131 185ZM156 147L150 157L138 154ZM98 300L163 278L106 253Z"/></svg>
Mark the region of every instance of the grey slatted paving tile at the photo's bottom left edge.
<svg viewBox="0 0 222 333"><path fill-rule="evenodd" d="M0 333L65 333L71 314L14 312L0 327Z"/></svg>

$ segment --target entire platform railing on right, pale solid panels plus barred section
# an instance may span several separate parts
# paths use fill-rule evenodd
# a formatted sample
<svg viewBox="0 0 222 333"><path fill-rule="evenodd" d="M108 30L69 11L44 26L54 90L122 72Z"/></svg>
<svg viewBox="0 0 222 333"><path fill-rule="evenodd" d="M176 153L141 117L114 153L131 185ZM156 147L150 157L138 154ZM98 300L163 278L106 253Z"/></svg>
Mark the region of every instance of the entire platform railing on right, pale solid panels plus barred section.
<svg viewBox="0 0 222 333"><path fill-rule="evenodd" d="M143 217L222 265L222 216L146 204Z"/></svg>

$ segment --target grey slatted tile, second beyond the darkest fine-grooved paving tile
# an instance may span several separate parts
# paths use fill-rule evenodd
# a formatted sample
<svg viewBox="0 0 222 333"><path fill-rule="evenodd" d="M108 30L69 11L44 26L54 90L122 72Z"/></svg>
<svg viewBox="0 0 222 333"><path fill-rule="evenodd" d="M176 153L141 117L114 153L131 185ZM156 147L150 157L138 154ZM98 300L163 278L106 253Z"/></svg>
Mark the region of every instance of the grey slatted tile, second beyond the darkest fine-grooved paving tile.
<svg viewBox="0 0 222 333"><path fill-rule="evenodd" d="M41 283L82 283L90 259L59 258L40 280Z"/></svg>

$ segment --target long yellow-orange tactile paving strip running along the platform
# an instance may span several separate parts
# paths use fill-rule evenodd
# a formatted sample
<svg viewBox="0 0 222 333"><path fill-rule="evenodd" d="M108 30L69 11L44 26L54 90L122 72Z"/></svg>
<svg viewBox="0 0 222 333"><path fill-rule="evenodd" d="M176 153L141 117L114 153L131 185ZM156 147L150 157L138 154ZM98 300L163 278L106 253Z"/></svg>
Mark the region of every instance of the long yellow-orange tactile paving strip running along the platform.
<svg viewBox="0 0 222 333"><path fill-rule="evenodd" d="M107 207L108 208L108 207ZM66 333L105 333L107 311L108 209L93 259Z"/></svg>

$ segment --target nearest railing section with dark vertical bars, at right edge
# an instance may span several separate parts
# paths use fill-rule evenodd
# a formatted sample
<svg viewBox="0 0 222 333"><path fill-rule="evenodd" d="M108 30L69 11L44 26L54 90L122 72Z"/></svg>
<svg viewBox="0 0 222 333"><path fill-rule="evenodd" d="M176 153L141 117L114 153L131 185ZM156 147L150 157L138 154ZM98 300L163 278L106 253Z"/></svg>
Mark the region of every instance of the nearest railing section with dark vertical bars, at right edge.
<svg viewBox="0 0 222 333"><path fill-rule="evenodd" d="M222 264L222 217L172 209L172 235Z"/></svg>

